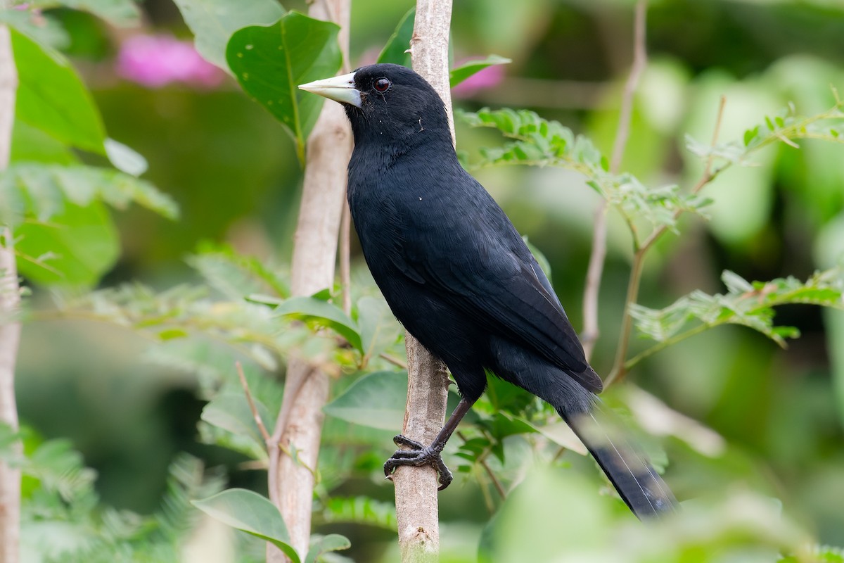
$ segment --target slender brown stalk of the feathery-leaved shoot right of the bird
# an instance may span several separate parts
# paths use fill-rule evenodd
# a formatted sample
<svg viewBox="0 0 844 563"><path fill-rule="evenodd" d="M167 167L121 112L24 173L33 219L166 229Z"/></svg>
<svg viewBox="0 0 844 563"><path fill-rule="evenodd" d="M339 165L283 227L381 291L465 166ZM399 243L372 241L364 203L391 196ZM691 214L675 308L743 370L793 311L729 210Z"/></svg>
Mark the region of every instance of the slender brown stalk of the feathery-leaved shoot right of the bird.
<svg viewBox="0 0 844 563"><path fill-rule="evenodd" d="M724 96L721 96L721 100L718 103L718 115L715 119L715 128L712 132L712 140L710 143L710 147L712 150L715 149L715 145L718 143L718 134L721 132L721 122L724 116L724 106L727 103L727 99ZM701 178L695 183L695 186L691 188L692 193L700 192L706 184L711 182L715 176L717 176L720 170L712 170L712 164L714 160L714 155L710 152L709 157L706 159L706 165L703 169L703 174ZM684 209L678 209L674 212L674 221L679 219L679 216L684 213ZM654 230L647 239L638 244L636 239L634 238L634 246L636 247L636 252L633 254L633 265L630 268L630 281L627 285L627 296L625 298L625 312L624 312L624 321L622 322L621 328L621 336L619 337L619 348L616 350L615 353L615 363L613 365L613 370L610 371L609 377L607 377L606 382L604 382L605 387L609 387L614 382L621 381L624 379L624 376L627 374L627 366L625 365L625 358L627 357L627 349L630 345L630 333L633 330L633 317L630 316L630 308L636 303L636 300L639 297L639 284L641 282L641 271L642 267L645 263L645 254L646 252L653 246L653 244L668 232L668 225L663 225L658 229Z"/></svg>

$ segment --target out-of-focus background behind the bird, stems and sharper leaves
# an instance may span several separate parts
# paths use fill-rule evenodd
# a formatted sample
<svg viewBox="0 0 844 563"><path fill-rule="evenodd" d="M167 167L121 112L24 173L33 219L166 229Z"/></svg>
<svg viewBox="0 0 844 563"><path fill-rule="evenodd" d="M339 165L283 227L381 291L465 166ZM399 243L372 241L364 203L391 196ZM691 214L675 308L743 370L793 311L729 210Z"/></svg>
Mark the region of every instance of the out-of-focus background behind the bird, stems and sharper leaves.
<svg viewBox="0 0 844 563"><path fill-rule="evenodd" d="M407 0L354 0L353 68L374 61L410 7ZM70 32L65 51L93 90L111 137L143 154L145 177L181 206L175 222L140 208L116 213L122 254L101 284L141 280L165 289L190 282L196 273L184 258L207 241L285 263L302 176L293 143L231 78L184 51L191 36L174 4L147 0L142 8L144 24L135 30L111 29L81 12L55 13ZM452 28L455 61L490 53L512 59L457 89L456 107L533 109L609 154L632 57L632 3L467 0L456 3ZM844 7L831 0L657 0L649 3L647 50L622 169L649 185L690 186L701 164L684 149L684 136L708 143L721 95L722 141L740 139L789 101L803 115L833 106L831 86L844 92ZM167 62L182 66L167 69ZM457 124L458 149L470 160L480 146L499 142L494 132ZM724 269L745 279L804 279L840 259L844 145L782 144L757 154L755 164L706 188L715 200L711 220L684 218L680 234L652 252L642 304L666 306L695 289L722 291ZM510 167L477 176L548 257L560 300L580 327L597 195L560 170ZM604 374L630 268L625 227L614 214L609 223L593 362ZM33 299L49 306L37 288ZM717 328L655 355L630 379L728 443L709 461L668 445L676 468L669 482L681 499L744 484L781 499L821 543L844 545L844 321L841 313L789 306L776 322L798 327L801 338L780 349L749 329ZM69 438L98 472L97 488L111 506L153 511L180 451L227 465L232 485L265 490L262 472L239 468L235 454L197 441L203 402L195 378L144 361L150 345L93 322L27 323L17 382L21 419L46 438ZM353 488L392 498L391 487L364 480ZM471 551L488 514L471 484L462 490L441 495L443 537ZM389 560L382 555L393 541L388 533L326 529L348 533L358 560Z"/></svg>

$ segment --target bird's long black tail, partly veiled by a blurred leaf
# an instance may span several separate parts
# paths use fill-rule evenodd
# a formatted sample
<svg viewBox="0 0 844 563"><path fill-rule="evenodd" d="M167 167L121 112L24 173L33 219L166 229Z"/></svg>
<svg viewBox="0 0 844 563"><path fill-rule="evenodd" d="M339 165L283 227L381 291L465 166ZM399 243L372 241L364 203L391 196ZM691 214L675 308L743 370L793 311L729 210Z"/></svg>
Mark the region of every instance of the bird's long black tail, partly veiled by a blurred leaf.
<svg viewBox="0 0 844 563"><path fill-rule="evenodd" d="M677 509L677 500L668 485L644 454L616 430L619 425L599 399L587 411L565 410L557 408L636 517L660 517Z"/></svg>

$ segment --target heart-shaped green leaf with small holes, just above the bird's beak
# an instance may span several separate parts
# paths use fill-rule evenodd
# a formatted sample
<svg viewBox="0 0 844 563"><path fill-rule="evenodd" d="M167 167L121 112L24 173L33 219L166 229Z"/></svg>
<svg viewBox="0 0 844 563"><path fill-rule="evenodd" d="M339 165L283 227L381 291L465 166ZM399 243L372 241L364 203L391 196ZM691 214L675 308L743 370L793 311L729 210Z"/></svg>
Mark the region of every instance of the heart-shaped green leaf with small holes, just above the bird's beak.
<svg viewBox="0 0 844 563"><path fill-rule="evenodd" d="M288 12L268 27L236 31L226 61L238 83L287 128L305 165L305 142L322 109L322 96L299 89L337 73L342 62L336 24Z"/></svg>

